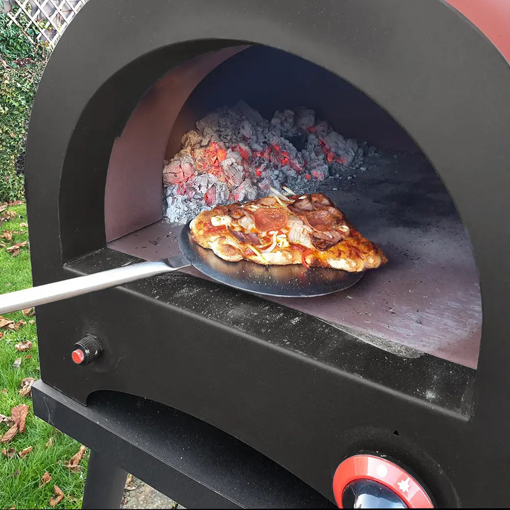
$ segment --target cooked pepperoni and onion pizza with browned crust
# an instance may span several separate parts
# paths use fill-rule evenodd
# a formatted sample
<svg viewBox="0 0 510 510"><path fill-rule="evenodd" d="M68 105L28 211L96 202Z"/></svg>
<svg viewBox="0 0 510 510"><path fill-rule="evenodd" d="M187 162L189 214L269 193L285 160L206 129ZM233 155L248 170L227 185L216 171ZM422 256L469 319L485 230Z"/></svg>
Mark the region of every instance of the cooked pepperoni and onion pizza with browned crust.
<svg viewBox="0 0 510 510"><path fill-rule="evenodd" d="M276 190L274 190L276 191ZM302 264L349 272L382 266L387 257L322 193L273 193L216 206L190 223L196 243L223 260L262 265Z"/></svg>

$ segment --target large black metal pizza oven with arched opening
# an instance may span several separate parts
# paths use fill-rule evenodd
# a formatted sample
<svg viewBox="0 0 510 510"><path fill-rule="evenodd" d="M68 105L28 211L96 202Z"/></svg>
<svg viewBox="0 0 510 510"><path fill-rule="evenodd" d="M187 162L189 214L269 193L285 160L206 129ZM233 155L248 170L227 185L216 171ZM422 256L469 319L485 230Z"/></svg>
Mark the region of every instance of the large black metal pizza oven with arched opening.
<svg viewBox="0 0 510 510"><path fill-rule="evenodd" d="M497 43L510 13L467 4ZM30 122L34 285L176 254L164 161L240 100L311 108L377 149L318 185L390 262L309 299L189 269L41 305L42 380L84 405L113 390L179 409L339 504L372 486L505 504L509 90L505 58L440 0L89 1ZM73 363L81 341L101 355Z"/></svg>

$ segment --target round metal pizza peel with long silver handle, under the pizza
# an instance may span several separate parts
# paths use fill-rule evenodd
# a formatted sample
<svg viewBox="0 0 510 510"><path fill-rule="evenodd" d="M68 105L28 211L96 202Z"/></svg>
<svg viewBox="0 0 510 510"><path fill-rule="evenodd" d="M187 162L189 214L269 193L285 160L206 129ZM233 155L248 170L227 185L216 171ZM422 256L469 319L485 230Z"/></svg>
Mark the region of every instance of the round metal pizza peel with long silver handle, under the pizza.
<svg viewBox="0 0 510 510"><path fill-rule="evenodd" d="M363 272L349 273L322 267L306 269L301 264L261 266L246 260L226 262L212 250L193 241L189 223L181 231L179 247L182 253L161 261L140 262L0 295L0 314L109 289L189 266L228 287L277 297L324 296L349 288L363 276Z"/></svg>

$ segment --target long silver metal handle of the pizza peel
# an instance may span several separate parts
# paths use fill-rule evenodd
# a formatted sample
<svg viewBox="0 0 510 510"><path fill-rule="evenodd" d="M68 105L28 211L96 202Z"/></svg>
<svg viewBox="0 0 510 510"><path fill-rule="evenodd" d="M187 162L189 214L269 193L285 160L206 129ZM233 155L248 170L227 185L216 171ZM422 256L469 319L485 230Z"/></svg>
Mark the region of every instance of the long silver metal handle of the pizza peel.
<svg viewBox="0 0 510 510"><path fill-rule="evenodd" d="M0 314L16 312L17 310L35 307L38 304L52 303L53 301L80 296L96 290L109 289L120 284L189 266L184 257L181 260L181 264L172 264L170 260L168 263L163 261L141 262L131 266L88 274L87 276L69 278L62 282L3 294L0 295Z"/></svg>

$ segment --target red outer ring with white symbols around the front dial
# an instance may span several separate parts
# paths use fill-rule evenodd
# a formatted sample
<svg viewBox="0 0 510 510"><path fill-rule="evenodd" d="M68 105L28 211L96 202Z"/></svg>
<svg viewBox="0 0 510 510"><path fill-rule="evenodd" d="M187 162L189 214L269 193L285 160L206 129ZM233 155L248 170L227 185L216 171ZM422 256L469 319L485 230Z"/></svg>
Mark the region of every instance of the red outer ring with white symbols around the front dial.
<svg viewBox="0 0 510 510"><path fill-rule="evenodd" d="M339 508L345 488L355 480L372 480L394 492L408 508L433 508L423 487L400 466L375 455L353 455L342 462L333 477L333 493Z"/></svg>

